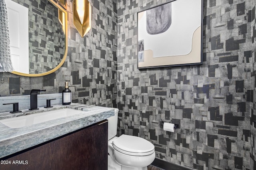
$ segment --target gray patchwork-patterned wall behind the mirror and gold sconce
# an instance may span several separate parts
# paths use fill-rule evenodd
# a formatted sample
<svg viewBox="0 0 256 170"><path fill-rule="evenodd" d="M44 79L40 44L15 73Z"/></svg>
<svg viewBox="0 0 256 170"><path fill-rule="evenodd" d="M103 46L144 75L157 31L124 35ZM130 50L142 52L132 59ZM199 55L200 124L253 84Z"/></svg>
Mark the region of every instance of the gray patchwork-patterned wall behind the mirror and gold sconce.
<svg viewBox="0 0 256 170"><path fill-rule="evenodd" d="M63 66L42 77L0 72L0 96L29 95L31 89L46 89L41 94L60 93L68 81L72 102L116 107L117 2L89 2L92 29L81 38L73 25L72 1L67 1L68 55Z"/></svg>

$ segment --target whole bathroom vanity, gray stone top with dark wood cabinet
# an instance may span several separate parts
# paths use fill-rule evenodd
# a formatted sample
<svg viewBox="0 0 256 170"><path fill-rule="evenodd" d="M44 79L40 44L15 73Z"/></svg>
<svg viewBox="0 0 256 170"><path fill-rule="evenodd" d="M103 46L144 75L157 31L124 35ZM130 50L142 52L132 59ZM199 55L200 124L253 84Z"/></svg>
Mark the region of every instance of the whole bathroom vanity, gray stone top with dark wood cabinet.
<svg viewBox="0 0 256 170"><path fill-rule="evenodd" d="M46 121L44 117L36 116L34 119L39 118L41 122L28 125L3 121L14 117L22 122L20 117L61 111L63 114L71 111L76 113L60 118L53 114L52 120ZM114 108L74 103L51 108L39 107L36 111L26 109L20 113L1 113L0 169L107 169L106 119L112 116Z"/></svg>

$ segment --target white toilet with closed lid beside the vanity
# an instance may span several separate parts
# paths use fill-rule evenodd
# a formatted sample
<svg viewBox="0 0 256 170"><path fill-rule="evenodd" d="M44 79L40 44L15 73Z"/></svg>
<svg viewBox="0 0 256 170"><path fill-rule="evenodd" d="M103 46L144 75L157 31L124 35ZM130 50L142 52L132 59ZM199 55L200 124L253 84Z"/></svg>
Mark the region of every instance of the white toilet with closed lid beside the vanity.
<svg viewBox="0 0 256 170"><path fill-rule="evenodd" d="M147 170L156 156L155 147L146 139L117 133L118 109L108 118L108 170Z"/></svg>

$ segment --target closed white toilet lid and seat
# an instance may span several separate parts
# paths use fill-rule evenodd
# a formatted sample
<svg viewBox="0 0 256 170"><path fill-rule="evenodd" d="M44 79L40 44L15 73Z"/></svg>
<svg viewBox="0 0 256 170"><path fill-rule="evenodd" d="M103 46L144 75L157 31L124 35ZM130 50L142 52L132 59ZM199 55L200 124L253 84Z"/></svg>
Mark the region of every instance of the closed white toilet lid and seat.
<svg viewBox="0 0 256 170"><path fill-rule="evenodd" d="M141 137L121 135L113 141L114 149L128 155L143 156L154 153L154 145Z"/></svg>

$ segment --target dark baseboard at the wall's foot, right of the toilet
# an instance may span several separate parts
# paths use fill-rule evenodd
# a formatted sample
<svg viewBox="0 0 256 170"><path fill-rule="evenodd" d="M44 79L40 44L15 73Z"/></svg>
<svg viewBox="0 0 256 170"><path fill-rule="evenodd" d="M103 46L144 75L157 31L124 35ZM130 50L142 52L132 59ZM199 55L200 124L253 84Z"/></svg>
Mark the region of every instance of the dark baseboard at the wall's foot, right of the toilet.
<svg viewBox="0 0 256 170"><path fill-rule="evenodd" d="M157 166L158 168L162 168L164 170L192 170L191 168L173 164L171 162L167 162L158 158L155 158L155 160L152 162L152 165Z"/></svg>

